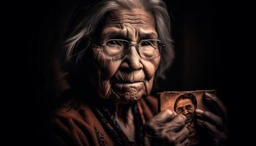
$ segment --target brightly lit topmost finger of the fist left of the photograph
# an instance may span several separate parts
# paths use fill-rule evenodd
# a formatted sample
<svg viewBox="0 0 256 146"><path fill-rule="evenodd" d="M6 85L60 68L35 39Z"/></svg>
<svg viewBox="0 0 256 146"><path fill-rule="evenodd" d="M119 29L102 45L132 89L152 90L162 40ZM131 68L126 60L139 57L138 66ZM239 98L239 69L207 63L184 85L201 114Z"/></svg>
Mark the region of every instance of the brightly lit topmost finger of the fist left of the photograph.
<svg viewBox="0 0 256 146"><path fill-rule="evenodd" d="M167 123L176 116L176 112L172 112L171 110L163 110L159 112L154 118L155 123Z"/></svg>

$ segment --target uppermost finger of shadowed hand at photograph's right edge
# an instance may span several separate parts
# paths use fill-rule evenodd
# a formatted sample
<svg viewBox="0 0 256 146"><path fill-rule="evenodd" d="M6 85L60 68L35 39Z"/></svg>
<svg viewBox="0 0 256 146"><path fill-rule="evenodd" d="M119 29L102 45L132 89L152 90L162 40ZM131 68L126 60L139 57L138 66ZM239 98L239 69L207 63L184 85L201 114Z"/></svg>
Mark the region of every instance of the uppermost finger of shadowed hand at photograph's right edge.
<svg viewBox="0 0 256 146"><path fill-rule="evenodd" d="M219 112L223 118L227 119L227 109L222 101L211 93L205 93L204 99L208 104L213 105L214 109Z"/></svg>

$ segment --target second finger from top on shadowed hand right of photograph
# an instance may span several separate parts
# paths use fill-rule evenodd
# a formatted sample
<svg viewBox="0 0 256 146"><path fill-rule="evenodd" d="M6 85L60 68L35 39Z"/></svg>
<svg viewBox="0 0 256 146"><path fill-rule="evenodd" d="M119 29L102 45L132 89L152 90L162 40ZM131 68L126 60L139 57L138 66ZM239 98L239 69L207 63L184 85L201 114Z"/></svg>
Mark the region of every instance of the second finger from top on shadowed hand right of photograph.
<svg viewBox="0 0 256 146"><path fill-rule="evenodd" d="M195 114L197 115L197 118L200 118L201 120L208 120L210 123L213 123L214 125L219 128L219 130L223 130L223 122L222 118L220 118L217 115L214 115L212 112L203 111L200 109L195 110Z"/></svg>

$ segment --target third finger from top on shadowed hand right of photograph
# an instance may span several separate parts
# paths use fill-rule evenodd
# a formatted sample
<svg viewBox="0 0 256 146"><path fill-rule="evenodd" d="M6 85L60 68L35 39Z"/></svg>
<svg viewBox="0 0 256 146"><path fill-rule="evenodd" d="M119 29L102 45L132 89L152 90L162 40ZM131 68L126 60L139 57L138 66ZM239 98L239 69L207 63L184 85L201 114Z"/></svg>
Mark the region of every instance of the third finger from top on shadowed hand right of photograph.
<svg viewBox="0 0 256 146"><path fill-rule="evenodd" d="M199 119L197 119L197 123L200 126L203 126L204 128L206 128L208 130L208 134L211 134L212 137L218 138L221 135L219 130L216 128L216 126L212 125L211 123L208 123L205 120L199 120Z"/></svg>

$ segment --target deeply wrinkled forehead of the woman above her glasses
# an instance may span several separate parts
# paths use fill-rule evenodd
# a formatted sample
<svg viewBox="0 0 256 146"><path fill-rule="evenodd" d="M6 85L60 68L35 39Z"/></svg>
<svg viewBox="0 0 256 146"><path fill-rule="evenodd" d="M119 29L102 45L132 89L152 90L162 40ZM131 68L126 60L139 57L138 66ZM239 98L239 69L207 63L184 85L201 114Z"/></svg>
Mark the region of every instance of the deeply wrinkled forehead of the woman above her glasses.
<svg viewBox="0 0 256 146"><path fill-rule="evenodd" d="M140 36L145 38L152 36L148 38L157 39L154 18L152 18L149 13L143 15L131 11L112 12L108 15L103 30L102 37L111 37L111 34L113 34L113 36L117 34L117 37L124 36L124 38L127 37L127 39L129 38L132 41L137 41Z"/></svg>

